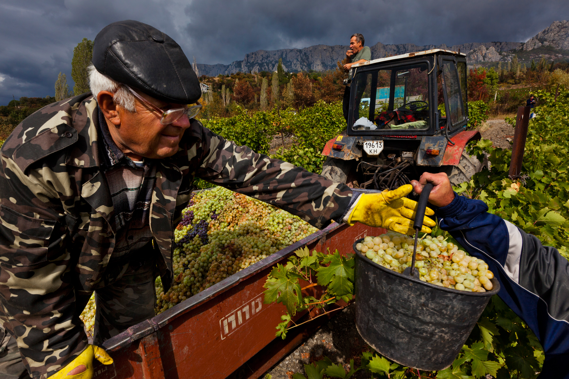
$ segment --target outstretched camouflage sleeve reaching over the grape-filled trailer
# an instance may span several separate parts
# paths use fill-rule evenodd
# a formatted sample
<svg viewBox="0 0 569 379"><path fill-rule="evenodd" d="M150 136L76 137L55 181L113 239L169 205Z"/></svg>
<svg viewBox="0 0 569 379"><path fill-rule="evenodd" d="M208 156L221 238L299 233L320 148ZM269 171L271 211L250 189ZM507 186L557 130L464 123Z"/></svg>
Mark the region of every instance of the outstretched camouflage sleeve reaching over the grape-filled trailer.
<svg viewBox="0 0 569 379"><path fill-rule="evenodd" d="M201 162L196 176L270 203L317 228L341 222L352 201L345 184L237 146L203 128Z"/></svg>

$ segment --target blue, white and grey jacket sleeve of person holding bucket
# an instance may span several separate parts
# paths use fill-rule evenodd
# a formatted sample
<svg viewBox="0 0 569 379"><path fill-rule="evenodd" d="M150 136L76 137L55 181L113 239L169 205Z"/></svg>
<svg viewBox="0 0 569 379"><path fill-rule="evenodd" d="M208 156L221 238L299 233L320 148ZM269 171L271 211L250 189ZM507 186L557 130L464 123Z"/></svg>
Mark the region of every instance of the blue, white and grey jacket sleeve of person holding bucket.
<svg viewBox="0 0 569 379"><path fill-rule="evenodd" d="M545 350L540 378L569 378L569 262L557 249L455 194L436 210L440 228L484 259L500 281L498 295L534 331Z"/></svg>

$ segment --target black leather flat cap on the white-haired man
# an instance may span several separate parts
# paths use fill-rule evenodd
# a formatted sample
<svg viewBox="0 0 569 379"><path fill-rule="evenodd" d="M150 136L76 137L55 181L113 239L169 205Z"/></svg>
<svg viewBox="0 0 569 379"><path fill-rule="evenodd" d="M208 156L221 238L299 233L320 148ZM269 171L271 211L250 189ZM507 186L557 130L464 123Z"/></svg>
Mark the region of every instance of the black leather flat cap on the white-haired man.
<svg viewBox="0 0 569 379"><path fill-rule="evenodd" d="M196 73L180 45L139 21L104 27L94 41L93 65L113 80L164 102L191 104L201 97Z"/></svg>

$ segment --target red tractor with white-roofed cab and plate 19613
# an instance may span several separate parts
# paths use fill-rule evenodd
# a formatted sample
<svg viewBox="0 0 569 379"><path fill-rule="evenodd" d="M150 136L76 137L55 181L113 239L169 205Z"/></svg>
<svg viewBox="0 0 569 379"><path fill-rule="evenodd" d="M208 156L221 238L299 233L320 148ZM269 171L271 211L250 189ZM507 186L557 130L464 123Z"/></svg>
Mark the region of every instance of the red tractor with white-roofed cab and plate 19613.
<svg viewBox="0 0 569 379"><path fill-rule="evenodd" d="M351 73L347 130L325 145L324 176L384 190L426 171L446 172L457 185L482 169L464 151L480 133L466 130L463 53L434 49L386 57L353 65Z"/></svg>

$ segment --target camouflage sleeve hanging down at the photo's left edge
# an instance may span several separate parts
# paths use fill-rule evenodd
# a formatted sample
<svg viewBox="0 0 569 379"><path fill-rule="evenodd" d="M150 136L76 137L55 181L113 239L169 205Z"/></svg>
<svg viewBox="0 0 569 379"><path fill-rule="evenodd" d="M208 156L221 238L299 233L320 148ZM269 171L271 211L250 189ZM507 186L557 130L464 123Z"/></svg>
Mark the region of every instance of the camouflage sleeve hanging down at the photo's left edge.
<svg viewBox="0 0 569 379"><path fill-rule="evenodd" d="M9 149L10 139L0 156L0 320L30 376L46 378L87 346L67 277L73 257L61 199L71 182L65 155L24 173Z"/></svg>

